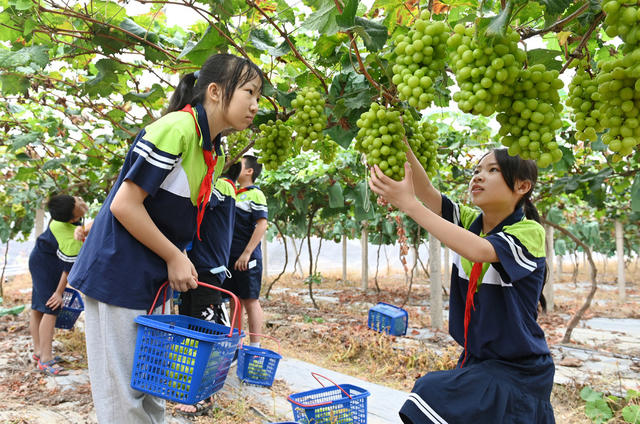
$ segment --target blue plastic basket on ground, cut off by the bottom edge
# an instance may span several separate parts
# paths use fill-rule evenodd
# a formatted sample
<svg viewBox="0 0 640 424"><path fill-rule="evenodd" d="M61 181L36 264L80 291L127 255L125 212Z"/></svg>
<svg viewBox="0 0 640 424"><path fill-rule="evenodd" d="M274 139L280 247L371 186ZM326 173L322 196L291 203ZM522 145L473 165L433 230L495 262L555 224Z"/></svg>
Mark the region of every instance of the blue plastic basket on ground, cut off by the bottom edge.
<svg viewBox="0 0 640 424"><path fill-rule="evenodd" d="M319 374L311 374L318 379L316 376ZM360 387L334 383L333 386L289 395L287 400L291 402L293 419L300 424L366 424L369 395Z"/></svg>

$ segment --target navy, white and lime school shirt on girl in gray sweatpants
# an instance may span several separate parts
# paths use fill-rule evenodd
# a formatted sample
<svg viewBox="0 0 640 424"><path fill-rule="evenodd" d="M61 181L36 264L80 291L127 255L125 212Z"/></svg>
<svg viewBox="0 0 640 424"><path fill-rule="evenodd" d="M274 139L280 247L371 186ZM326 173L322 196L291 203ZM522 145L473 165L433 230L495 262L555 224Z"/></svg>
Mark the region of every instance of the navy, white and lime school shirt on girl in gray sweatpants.
<svg viewBox="0 0 640 424"><path fill-rule="evenodd" d="M184 250L193 239L198 194L207 174L203 150L214 150L217 156L214 180L225 159L220 136L211 141L202 105L196 105L193 112L168 113L137 135L69 274L69 283L86 296L144 310L167 280L166 262L135 239L111 213L113 198L125 180L149 194L144 207L178 249Z"/></svg>

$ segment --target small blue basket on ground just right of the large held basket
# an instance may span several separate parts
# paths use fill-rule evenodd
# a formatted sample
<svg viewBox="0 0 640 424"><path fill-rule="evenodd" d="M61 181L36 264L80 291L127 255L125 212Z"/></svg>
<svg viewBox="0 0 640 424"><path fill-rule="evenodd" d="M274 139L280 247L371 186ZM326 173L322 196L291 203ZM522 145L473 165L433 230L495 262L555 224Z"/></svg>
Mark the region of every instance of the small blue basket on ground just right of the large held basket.
<svg viewBox="0 0 640 424"><path fill-rule="evenodd" d="M282 355L269 349L242 346L238 350L238 378L250 384L271 387Z"/></svg>

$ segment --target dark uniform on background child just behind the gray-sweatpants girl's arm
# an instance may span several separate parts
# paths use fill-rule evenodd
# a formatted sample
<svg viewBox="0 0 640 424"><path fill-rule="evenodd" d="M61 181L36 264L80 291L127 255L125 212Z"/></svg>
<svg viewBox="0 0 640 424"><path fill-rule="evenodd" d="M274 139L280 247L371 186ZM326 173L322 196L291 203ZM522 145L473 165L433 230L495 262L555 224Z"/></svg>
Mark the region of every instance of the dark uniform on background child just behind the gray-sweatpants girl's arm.
<svg viewBox="0 0 640 424"><path fill-rule="evenodd" d="M233 239L236 189L231 180L218 178L200 226L201 238L195 237L187 255L198 272L198 279L217 287L227 276L229 249ZM221 292L198 286L180 295L180 314L207 319L212 305L222 303Z"/></svg>

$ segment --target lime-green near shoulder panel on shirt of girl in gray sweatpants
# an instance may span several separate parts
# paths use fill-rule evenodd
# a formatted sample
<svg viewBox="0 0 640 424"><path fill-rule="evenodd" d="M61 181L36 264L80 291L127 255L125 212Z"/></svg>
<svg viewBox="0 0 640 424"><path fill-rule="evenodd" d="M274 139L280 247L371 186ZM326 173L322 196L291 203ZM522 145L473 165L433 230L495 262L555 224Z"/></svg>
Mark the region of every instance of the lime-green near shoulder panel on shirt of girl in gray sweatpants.
<svg viewBox="0 0 640 424"><path fill-rule="evenodd" d="M171 112L145 127L144 139L159 150L180 155L188 149L187 141L197 140L193 117L186 112Z"/></svg>

